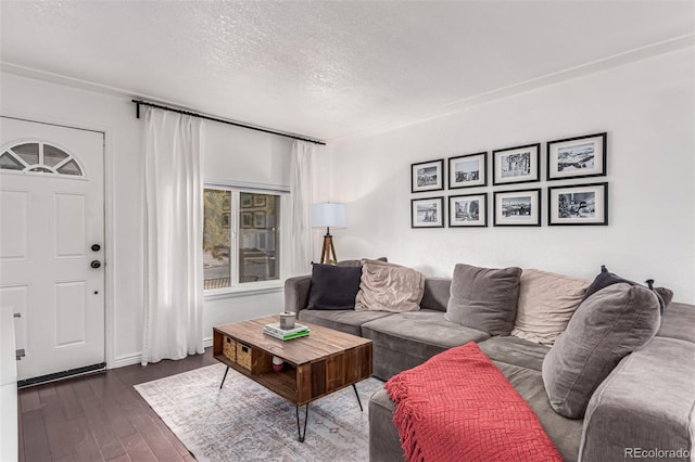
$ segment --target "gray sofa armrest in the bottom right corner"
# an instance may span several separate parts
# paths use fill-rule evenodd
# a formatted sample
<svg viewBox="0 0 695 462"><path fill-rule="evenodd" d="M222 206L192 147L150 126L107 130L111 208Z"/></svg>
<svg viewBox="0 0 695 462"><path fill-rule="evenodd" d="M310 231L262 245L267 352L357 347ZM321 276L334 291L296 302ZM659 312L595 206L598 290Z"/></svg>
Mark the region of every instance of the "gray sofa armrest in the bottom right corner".
<svg viewBox="0 0 695 462"><path fill-rule="evenodd" d="M589 401L580 460L683 459L684 451L692 454L694 357L695 344L655 337L623 358ZM681 455L645 455L655 450L680 450Z"/></svg>

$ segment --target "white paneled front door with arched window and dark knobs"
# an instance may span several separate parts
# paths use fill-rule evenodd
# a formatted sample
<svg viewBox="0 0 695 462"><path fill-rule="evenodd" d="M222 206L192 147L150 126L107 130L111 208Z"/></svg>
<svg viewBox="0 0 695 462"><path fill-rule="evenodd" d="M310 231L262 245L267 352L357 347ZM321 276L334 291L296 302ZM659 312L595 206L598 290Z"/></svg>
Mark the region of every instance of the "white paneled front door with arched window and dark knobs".
<svg viewBox="0 0 695 462"><path fill-rule="evenodd" d="M0 306L21 316L21 382L103 368L103 153L102 132L0 117Z"/></svg>

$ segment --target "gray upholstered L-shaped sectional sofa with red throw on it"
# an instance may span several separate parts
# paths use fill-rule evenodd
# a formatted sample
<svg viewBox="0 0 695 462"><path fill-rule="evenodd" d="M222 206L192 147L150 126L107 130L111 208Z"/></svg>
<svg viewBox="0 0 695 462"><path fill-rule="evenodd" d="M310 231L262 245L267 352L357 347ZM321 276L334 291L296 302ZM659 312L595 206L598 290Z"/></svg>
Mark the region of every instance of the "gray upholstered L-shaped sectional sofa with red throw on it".
<svg viewBox="0 0 695 462"><path fill-rule="evenodd" d="M418 311L312 310L311 277L298 277L286 282L286 310L370 338L374 375L384 381L447 348L476 342L536 413L566 461L695 460L695 306L671 303L657 335L601 383L584 418L567 419L545 392L541 370L549 347L448 322L451 285L451 279L427 278ZM402 460L393 411L386 390L371 397L371 461Z"/></svg>

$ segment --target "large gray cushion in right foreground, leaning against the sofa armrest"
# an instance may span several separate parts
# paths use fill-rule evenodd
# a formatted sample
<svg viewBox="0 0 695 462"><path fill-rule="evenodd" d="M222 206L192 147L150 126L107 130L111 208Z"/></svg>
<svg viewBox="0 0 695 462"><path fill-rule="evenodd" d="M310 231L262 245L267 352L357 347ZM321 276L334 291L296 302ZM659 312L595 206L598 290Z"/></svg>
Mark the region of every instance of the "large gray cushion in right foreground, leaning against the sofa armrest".
<svg viewBox="0 0 695 462"><path fill-rule="evenodd" d="M659 329L659 303L646 287L617 283L586 298L543 360L543 382L553 409L584 415L596 387L629 352Z"/></svg>

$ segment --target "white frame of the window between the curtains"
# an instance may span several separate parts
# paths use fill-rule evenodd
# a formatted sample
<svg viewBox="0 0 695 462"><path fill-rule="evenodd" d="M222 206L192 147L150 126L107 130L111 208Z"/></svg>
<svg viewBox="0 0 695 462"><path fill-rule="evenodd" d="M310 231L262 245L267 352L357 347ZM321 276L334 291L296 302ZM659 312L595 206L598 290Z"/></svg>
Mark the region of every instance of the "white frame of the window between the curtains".
<svg viewBox="0 0 695 462"><path fill-rule="evenodd" d="M248 293L266 293L278 292L285 287L285 248L286 242L288 242L289 229L286 226L285 219L288 213L290 204L289 195L290 188L285 185L273 184L257 184L257 183L238 183L226 181L205 181L203 183L203 190L215 189L222 191L229 191L231 193L229 201L229 287L223 288L210 288L203 291L205 300L213 300L217 298L227 298L236 295L243 295ZM280 197L280 220L279 227L279 260L280 265L276 267L278 271L278 279L270 281L257 281L257 282L239 282L239 211L241 193L252 194L273 194ZM201 243L202 245L202 243Z"/></svg>

